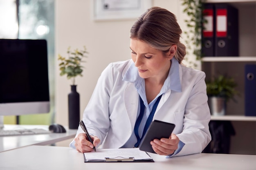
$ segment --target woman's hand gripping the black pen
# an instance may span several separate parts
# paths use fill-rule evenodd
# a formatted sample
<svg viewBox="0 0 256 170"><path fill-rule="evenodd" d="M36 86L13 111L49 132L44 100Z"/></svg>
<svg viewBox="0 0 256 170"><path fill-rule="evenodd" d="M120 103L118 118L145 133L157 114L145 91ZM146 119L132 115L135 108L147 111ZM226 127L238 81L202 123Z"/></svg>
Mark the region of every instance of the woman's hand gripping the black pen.
<svg viewBox="0 0 256 170"><path fill-rule="evenodd" d="M91 152L93 149L93 146L97 146L99 142L101 141L96 136L91 136L93 144L88 140L85 133L79 133L77 137L75 137L75 147L78 152Z"/></svg>

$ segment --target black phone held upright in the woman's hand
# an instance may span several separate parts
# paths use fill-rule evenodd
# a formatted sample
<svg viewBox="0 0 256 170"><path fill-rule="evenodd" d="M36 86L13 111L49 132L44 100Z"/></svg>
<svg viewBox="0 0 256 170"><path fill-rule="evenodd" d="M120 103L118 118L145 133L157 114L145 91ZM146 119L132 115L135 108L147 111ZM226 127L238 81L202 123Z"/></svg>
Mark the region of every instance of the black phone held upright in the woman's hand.
<svg viewBox="0 0 256 170"><path fill-rule="evenodd" d="M155 153L150 144L150 141L153 141L154 139L169 138L174 128L175 124L159 120L152 121L148 127L148 131L139 144L139 150Z"/></svg>

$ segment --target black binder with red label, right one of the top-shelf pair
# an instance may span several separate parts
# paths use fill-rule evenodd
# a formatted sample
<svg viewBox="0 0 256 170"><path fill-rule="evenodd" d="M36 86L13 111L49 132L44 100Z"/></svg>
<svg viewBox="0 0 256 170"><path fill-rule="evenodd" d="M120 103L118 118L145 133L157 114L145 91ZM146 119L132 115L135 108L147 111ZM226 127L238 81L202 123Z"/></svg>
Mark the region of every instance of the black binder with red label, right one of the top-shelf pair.
<svg viewBox="0 0 256 170"><path fill-rule="evenodd" d="M238 10L229 4L215 4L215 56L238 56Z"/></svg>

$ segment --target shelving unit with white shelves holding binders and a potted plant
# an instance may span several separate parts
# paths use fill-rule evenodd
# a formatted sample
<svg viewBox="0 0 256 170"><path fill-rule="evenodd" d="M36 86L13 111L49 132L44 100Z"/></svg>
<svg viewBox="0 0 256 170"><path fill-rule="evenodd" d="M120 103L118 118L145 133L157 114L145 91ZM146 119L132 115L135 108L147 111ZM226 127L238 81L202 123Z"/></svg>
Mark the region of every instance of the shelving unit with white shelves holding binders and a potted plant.
<svg viewBox="0 0 256 170"><path fill-rule="evenodd" d="M256 64L256 0L207 0L228 3L238 9L239 57L203 57L206 80L218 75L233 77L237 83L236 102L227 103L226 115L211 116L212 121L231 121L236 135L231 137L230 153L256 155L256 117L245 116L245 64ZM255 87L256 88L256 87Z"/></svg>

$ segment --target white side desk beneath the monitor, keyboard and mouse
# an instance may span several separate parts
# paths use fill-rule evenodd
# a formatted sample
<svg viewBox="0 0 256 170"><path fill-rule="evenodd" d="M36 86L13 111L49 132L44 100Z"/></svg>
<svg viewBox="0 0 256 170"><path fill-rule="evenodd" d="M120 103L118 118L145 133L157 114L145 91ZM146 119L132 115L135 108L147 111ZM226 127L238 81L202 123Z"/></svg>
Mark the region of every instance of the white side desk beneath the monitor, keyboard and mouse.
<svg viewBox="0 0 256 170"><path fill-rule="evenodd" d="M42 128L48 130L47 125L4 125L4 129L32 129ZM0 137L0 152L20 148L29 145L50 145L58 141L74 138L76 130L66 128L66 133L50 133L40 135L17 135L17 136L4 136Z"/></svg>

